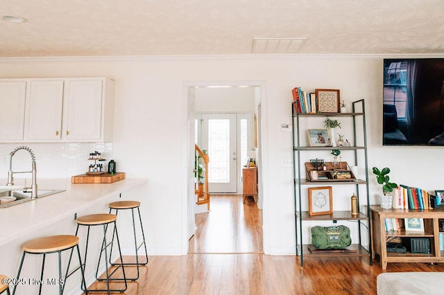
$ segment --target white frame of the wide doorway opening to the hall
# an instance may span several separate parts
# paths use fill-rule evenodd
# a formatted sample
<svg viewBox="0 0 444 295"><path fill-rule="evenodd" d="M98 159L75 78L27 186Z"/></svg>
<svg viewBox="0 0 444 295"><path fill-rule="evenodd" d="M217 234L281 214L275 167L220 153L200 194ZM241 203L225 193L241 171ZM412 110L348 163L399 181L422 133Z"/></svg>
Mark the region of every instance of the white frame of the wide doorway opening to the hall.
<svg viewBox="0 0 444 295"><path fill-rule="evenodd" d="M194 177L194 132L190 132L189 122L194 122L194 109L189 109L190 98L189 93L193 93L190 89L194 87L211 87L211 86L232 86L232 87L258 87L259 93L255 97L255 111L257 112L259 104L260 109L260 122L261 126L258 128L261 132L259 138L261 143L258 143L260 147L258 159L262 160L262 169L259 170L257 177L258 186L262 189L262 196L259 197L258 206L262 209L262 231L263 231L263 243L264 253L268 253L269 248L269 225L268 225L268 157L266 157L268 151L268 144L266 138L267 128L266 126L266 82L265 81L189 81L184 82L183 85L183 100L182 100L182 255L187 255L189 251L189 238L196 232L196 225L194 221L194 182L191 183L192 177Z"/></svg>

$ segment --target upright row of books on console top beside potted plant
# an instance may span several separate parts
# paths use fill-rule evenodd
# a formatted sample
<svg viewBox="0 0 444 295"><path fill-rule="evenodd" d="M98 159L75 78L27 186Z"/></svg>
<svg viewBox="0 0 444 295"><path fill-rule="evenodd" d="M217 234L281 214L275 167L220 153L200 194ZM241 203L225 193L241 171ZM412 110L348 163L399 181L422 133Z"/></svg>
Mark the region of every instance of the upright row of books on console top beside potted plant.
<svg viewBox="0 0 444 295"><path fill-rule="evenodd" d="M430 208L430 196L421 188L412 188L400 184L393 190L393 208L404 209L428 209Z"/></svg>

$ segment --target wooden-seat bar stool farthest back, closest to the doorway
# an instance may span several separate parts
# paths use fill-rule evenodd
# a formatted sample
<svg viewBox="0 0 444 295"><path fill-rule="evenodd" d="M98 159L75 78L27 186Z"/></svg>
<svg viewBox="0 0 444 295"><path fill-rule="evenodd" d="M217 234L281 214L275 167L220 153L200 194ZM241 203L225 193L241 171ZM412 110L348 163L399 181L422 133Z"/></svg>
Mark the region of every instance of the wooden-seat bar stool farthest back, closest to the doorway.
<svg viewBox="0 0 444 295"><path fill-rule="evenodd" d="M139 265L146 265L148 263L148 253L146 251L144 226L142 224L142 217L140 216L140 210L139 210L140 202L137 202L137 201L112 202L109 204L109 207L110 207L110 213L114 210L116 216L117 216L117 213L119 213L119 210L131 209L131 214L133 216L133 235L134 235L134 247L135 247L135 253L136 253L136 262L135 263L127 262L127 263L124 263L124 265L137 267L137 276L135 278L128 278L128 280L137 280L137 278L139 278ZM137 213L139 214L140 231L142 233L142 242L140 244L137 243L136 224L135 224L135 217L134 217L134 210L135 209L137 209ZM112 237L112 243L114 243L114 236ZM142 247L142 245L144 246L144 249L145 249L145 258L143 261L139 261L139 249L140 249L140 247ZM111 246L111 252L112 252L112 246Z"/></svg>

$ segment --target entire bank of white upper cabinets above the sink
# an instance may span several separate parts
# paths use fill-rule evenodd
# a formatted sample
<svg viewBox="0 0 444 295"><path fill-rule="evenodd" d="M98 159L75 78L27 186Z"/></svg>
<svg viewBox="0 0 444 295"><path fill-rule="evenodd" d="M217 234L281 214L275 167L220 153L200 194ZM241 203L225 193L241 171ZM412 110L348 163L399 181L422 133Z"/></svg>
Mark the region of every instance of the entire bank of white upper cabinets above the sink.
<svg viewBox="0 0 444 295"><path fill-rule="evenodd" d="M112 141L113 80L108 78L17 80L22 83L22 93L17 82L0 80L0 107L8 109L5 111L8 113L8 118L0 118L0 123L5 120L7 121L5 124L8 123L10 127L8 132L0 131L0 141ZM10 101L12 94L13 103ZM23 97L20 100L21 94Z"/></svg>

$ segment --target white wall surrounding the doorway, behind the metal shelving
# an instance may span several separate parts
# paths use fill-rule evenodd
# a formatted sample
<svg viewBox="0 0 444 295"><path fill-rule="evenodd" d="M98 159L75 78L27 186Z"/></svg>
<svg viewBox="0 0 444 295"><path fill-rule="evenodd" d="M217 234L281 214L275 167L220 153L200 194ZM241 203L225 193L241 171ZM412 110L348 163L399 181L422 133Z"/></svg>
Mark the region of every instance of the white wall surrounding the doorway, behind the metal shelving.
<svg viewBox="0 0 444 295"><path fill-rule="evenodd" d="M106 76L116 81L114 158L127 177L148 178L144 218L152 254L187 251L187 96L192 81L264 81L262 160L264 170L264 250L294 253L291 89L341 89L341 100L365 98L369 167L389 166L395 182L429 191L442 189L442 147L382 147L381 56L253 56L73 58L0 60L1 78ZM313 127L322 127L316 125ZM185 151L185 152L184 152ZM51 151L48 151L51 152ZM41 154L46 154L42 151ZM37 154L40 157L40 154ZM45 155L46 157L46 155ZM325 156L326 157L326 156ZM4 163L4 162L3 162ZM54 166L57 161L54 161ZM3 164L2 164L3 165ZM62 168L63 169L63 168ZM427 170L427 177L422 173ZM4 167L1 167L3 173ZM40 177L45 177L40 173ZM370 195L380 193L370 175ZM141 197L141 196L139 196ZM343 201L341 199L343 198ZM335 206L348 208L350 192L334 189ZM339 199L339 200L338 200ZM341 208L335 208L341 209Z"/></svg>

